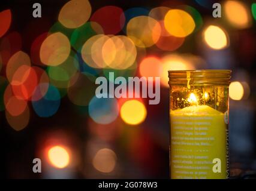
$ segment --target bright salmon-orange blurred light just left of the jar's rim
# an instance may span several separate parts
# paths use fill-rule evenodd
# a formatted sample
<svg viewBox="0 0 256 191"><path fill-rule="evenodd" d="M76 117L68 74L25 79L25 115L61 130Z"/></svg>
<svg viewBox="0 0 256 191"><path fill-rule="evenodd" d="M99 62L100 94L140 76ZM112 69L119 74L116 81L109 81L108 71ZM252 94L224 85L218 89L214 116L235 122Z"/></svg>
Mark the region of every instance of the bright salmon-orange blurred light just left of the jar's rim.
<svg viewBox="0 0 256 191"><path fill-rule="evenodd" d="M140 76L159 77L162 75L162 61L158 57L146 57L141 61L139 71Z"/></svg>

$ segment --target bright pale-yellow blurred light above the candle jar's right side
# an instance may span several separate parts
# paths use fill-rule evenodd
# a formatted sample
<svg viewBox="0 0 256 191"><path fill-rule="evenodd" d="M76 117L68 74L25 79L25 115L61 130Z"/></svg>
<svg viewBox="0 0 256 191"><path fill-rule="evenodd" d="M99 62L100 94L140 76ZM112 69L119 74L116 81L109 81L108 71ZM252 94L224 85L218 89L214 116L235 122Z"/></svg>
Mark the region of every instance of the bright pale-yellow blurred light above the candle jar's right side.
<svg viewBox="0 0 256 191"><path fill-rule="evenodd" d="M224 30L218 26L210 25L204 31L204 41L209 45L210 48L221 50L227 47L228 38Z"/></svg>

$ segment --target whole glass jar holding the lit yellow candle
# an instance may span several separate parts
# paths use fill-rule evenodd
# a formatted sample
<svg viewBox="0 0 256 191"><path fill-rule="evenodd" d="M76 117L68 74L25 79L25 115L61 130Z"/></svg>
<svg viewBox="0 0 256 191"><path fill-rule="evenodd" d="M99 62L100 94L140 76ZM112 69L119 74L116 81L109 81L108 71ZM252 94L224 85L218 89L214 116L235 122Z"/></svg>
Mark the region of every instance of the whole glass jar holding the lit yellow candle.
<svg viewBox="0 0 256 191"><path fill-rule="evenodd" d="M170 177L225 179L231 70L168 71Z"/></svg>

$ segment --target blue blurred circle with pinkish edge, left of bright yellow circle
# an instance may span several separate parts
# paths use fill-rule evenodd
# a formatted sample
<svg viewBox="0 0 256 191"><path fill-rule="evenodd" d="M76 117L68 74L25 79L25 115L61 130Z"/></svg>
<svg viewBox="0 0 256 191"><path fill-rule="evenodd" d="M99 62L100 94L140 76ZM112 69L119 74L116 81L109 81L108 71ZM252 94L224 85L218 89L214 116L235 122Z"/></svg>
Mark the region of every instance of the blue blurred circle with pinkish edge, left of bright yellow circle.
<svg viewBox="0 0 256 191"><path fill-rule="evenodd" d="M108 94L105 95L109 97ZM110 124L119 114L116 98L92 98L89 103L89 116L98 124Z"/></svg>

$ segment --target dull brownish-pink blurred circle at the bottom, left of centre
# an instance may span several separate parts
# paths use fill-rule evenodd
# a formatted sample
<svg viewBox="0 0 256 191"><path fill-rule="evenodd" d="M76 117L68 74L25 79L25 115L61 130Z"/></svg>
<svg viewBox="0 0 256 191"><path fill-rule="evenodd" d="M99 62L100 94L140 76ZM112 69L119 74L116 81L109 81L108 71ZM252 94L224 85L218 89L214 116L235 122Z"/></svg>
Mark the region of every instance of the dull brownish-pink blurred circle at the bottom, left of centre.
<svg viewBox="0 0 256 191"><path fill-rule="evenodd" d="M92 165L100 172L112 172L116 166L116 153L111 149L100 149L94 156Z"/></svg>

